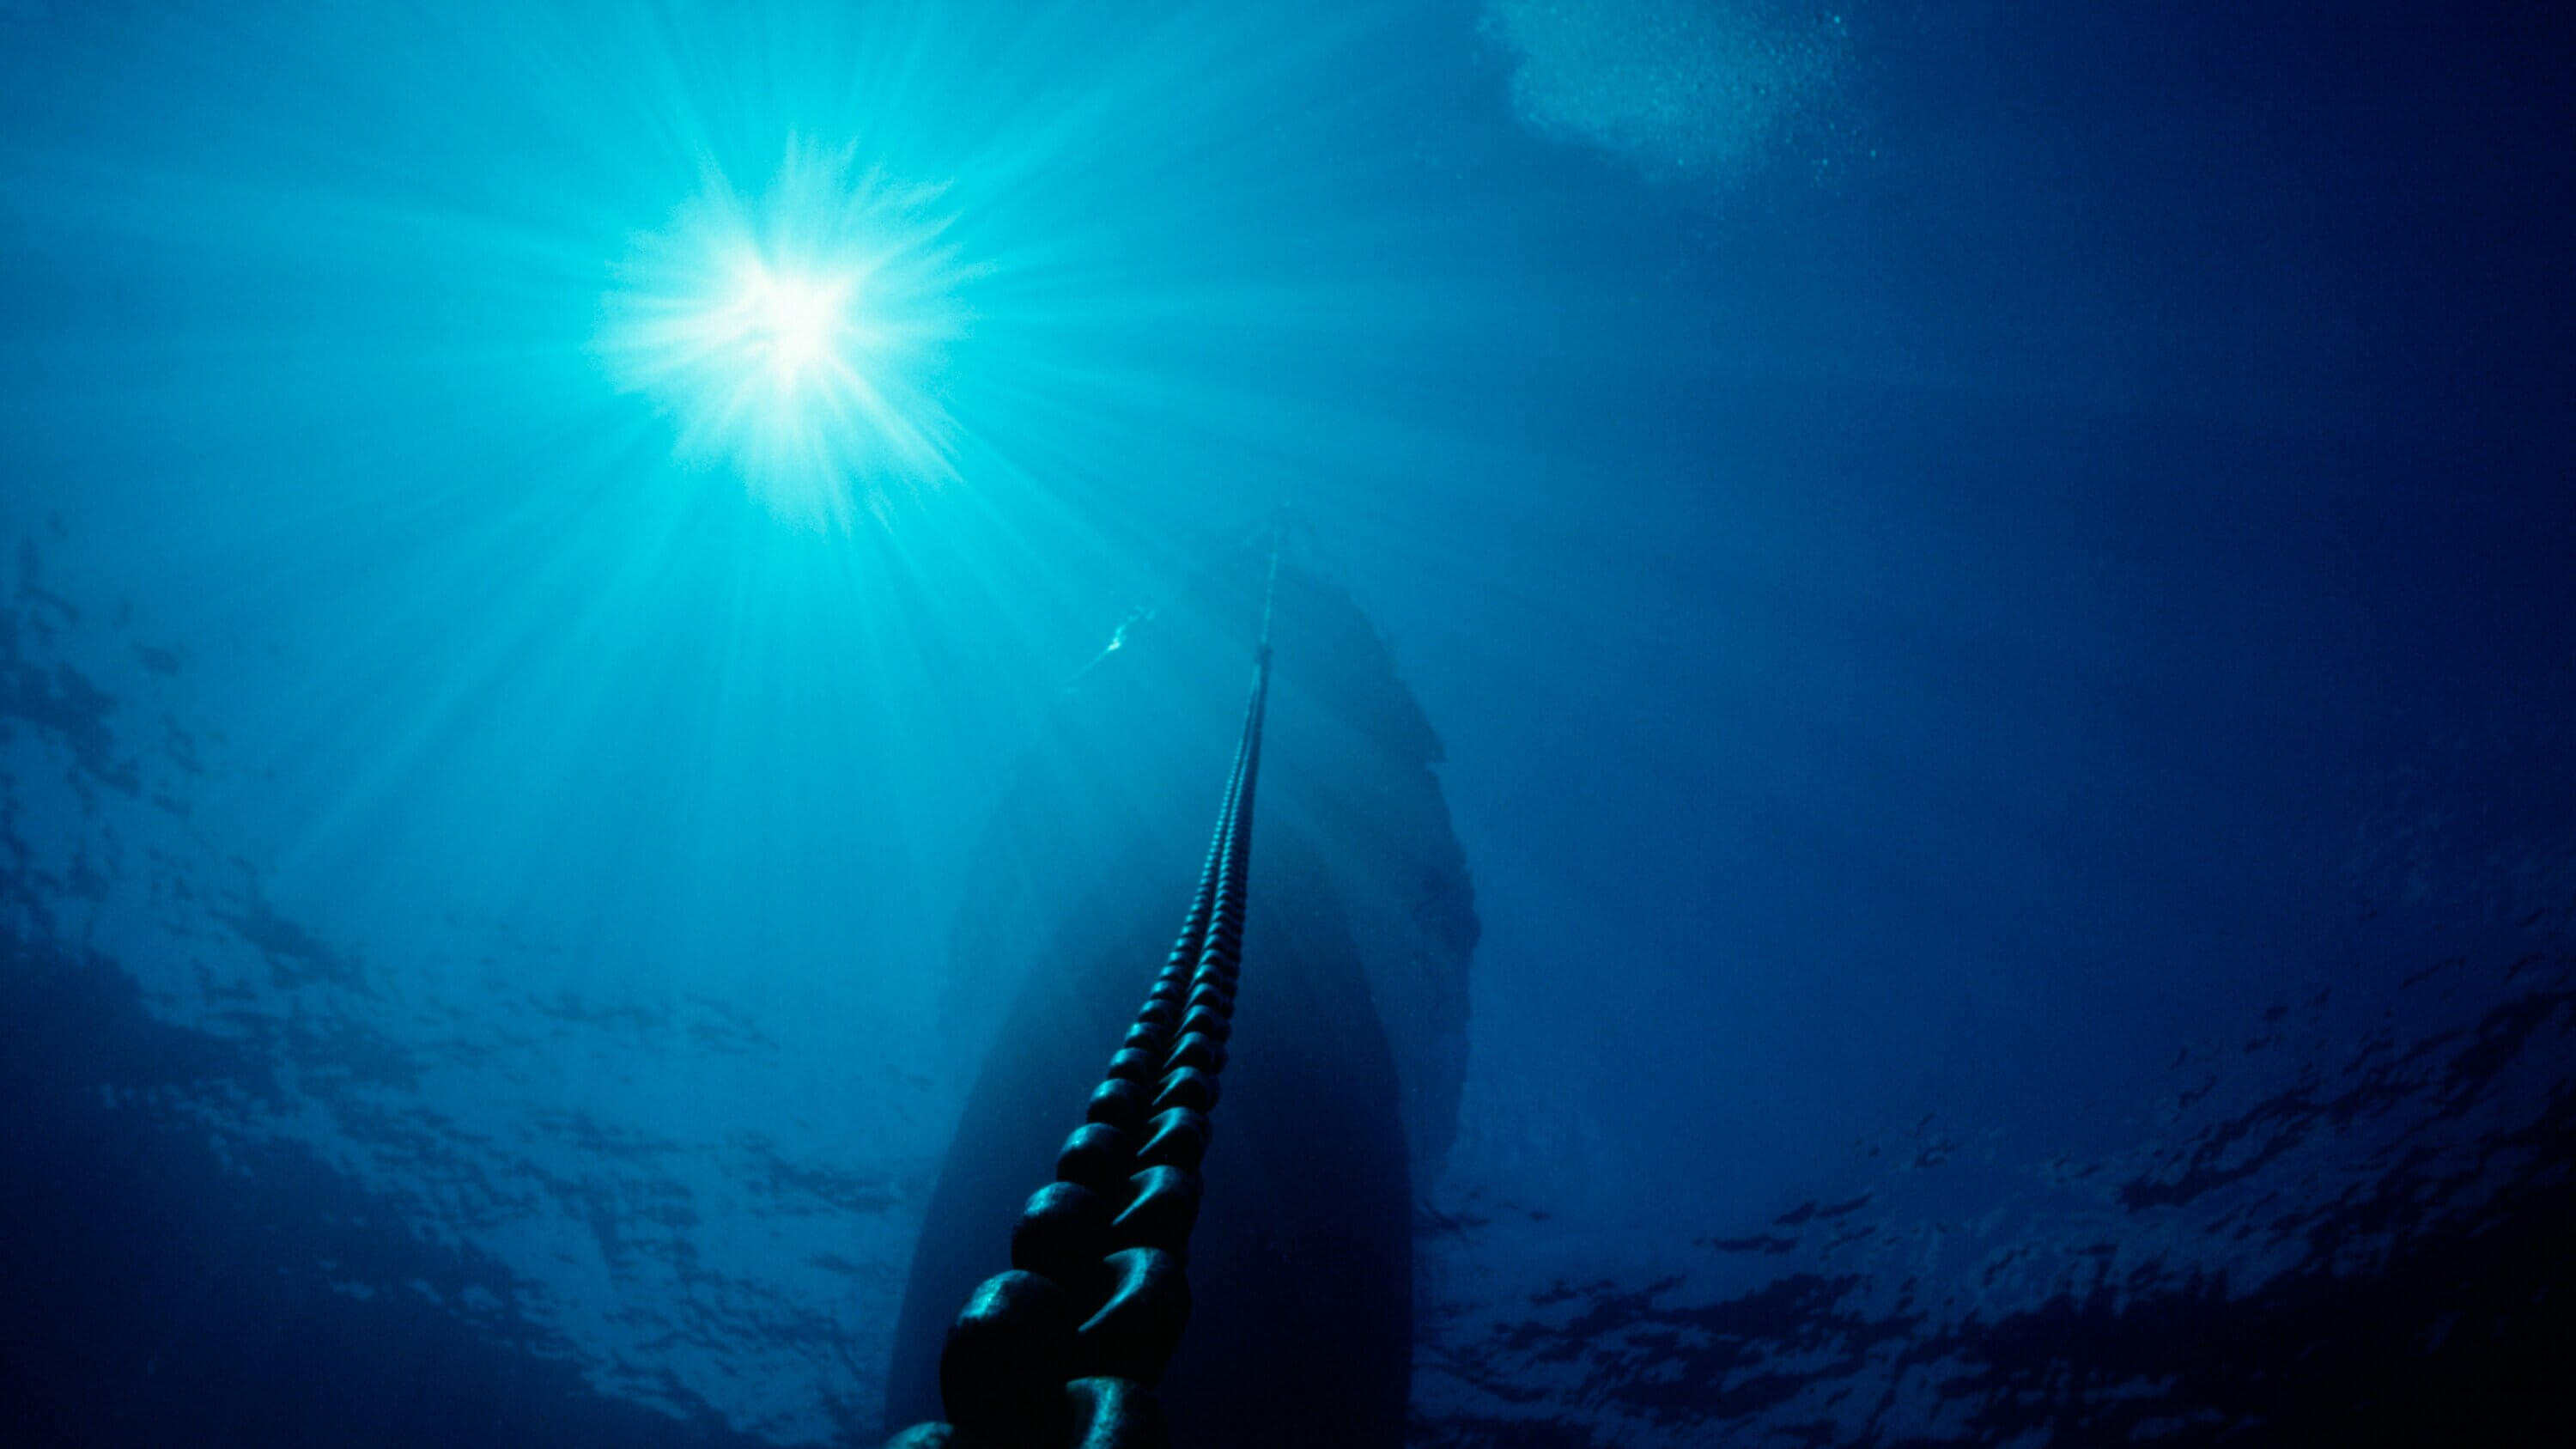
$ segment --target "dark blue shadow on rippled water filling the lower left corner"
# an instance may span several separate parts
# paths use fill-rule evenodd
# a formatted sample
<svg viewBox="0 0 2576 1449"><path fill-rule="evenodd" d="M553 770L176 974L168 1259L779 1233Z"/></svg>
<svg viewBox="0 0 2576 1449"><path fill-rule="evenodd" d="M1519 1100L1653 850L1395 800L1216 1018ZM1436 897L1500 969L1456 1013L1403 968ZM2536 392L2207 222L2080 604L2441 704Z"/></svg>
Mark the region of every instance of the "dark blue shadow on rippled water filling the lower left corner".
<svg viewBox="0 0 2576 1449"><path fill-rule="evenodd" d="M18 1444L760 1444L605 1397L497 1263L191 1104L273 1065L149 1018L106 959L0 936L0 1400Z"/></svg>

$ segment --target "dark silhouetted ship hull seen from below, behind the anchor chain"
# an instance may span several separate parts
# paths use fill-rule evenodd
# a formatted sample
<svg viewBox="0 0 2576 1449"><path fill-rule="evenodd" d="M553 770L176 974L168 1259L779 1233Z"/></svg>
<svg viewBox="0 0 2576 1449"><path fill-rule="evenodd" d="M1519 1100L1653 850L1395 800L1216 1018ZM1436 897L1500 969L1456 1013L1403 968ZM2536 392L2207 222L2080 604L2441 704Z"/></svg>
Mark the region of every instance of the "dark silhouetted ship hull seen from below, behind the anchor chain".
<svg viewBox="0 0 2576 1449"><path fill-rule="evenodd" d="M943 1415L945 1325L1010 1266L1020 1204L1051 1181L1190 900L1249 678L1257 565L1226 559L1126 632L979 853L951 998L961 1047L989 1049L912 1263L889 1428ZM1285 570L1195 1307L1159 1385L1175 1444L1404 1441L1412 1183L1453 1129L1476 936L1435 758L1365 616Z"/></svg>

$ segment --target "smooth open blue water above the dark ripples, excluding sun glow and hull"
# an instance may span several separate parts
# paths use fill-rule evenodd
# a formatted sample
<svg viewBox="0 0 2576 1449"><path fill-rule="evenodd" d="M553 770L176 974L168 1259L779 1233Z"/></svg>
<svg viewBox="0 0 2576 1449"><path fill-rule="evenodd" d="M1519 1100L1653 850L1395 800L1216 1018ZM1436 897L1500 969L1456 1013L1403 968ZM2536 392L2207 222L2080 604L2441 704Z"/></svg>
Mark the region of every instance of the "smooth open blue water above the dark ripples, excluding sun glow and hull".
<svg viewBox="0 0 2576 1449"><path fill-rule="evenodd" d="M1927 1116L1999 1173L2117 1155L2267 1008L2324 993L2342 1062L2540 980L2424 1011L2427 964L2563 972L2555 8L1698 10L1834 57L1723 173L1533 116L1463 3L0 5L13 969L100 951L240 1036L178 902L273 905L366 962L386 1049L489 1067L379 1083L407 1111L757 1124L904 1201L999 766L1193 547L1293 498L1479 874L1437 1209L1546 1217L1463 1279L1695 1271L1880 1191ZM672 462L592 351L629 240L788 134L945 183L984 268L958 477L842 534ZM502 1083L515 998L469 957L721 1003L804 1085ZM250 1036L227 1070L340 1049ZM160 1080L111 1047L49 1070ZM945 1088L891 1142L907 1075ZM2530 1116L2494 1111L2468 1132ZM544 1274L443 1201L425 1238Z"/></svg>

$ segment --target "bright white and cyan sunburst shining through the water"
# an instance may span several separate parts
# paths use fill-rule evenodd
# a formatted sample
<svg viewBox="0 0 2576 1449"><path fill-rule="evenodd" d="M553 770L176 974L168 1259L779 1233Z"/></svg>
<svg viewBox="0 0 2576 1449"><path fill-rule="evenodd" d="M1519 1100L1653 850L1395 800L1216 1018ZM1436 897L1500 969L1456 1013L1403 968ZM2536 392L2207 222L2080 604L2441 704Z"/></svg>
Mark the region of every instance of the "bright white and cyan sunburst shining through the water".
<svg viewBox="0 0 2576 1449"><path fill-rule="evenodd" d="M611 376L677 423L683 459L726 464L786 518L850 523L943 482L966 268L935 201L796 142L757 196L711 170L618 266Z"/></svg>

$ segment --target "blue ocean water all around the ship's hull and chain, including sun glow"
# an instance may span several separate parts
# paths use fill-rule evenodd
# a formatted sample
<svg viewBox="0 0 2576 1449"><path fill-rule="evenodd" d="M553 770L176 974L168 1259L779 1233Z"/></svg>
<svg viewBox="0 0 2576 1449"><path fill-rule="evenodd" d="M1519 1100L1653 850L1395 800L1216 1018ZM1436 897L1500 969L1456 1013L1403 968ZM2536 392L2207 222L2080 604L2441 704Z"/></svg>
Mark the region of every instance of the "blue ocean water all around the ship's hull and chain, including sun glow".
<svg viewBox="0 0 2576 1449"><path fill-rule="evenodd" d="M0 0L0 1441L873 1444L1280 505L1473 879L1412 1444L2563 1434L2571 39Z"/></svg>

